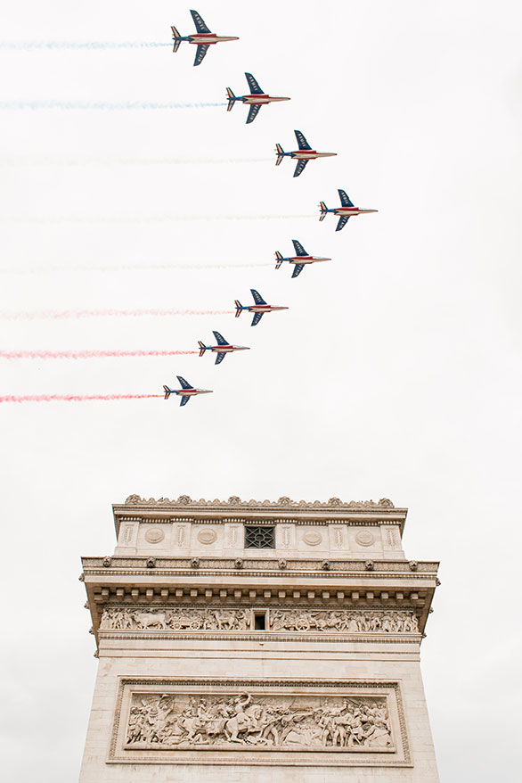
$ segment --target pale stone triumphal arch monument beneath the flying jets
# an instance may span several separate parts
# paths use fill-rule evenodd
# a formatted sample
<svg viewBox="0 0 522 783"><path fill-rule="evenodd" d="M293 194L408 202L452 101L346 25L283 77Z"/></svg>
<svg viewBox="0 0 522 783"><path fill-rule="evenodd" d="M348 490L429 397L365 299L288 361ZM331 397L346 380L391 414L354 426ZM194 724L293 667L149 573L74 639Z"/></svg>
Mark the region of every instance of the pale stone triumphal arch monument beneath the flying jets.
<svg viewBox="0 0 522 783"><path fill-rule="evenodd" d="M84 557L99 670L80 783L436 783L437 563L379 502L131 495Z"/></svg>

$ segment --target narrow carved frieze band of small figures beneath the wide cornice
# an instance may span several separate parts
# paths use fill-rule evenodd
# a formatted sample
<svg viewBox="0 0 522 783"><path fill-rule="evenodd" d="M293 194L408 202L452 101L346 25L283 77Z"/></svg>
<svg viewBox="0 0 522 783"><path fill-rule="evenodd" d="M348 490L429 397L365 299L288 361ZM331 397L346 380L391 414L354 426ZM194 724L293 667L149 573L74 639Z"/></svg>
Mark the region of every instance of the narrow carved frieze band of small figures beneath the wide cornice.
<svg viewBox="0 0 522 783"><path fill-rule="evenodd" d="M100 631L252 631L253 620L251 609L187 607L145 611L116 606L104 610ZM413 612L271 609L266 612L266 621L265 632L269 633L419 633Z"/></svg>

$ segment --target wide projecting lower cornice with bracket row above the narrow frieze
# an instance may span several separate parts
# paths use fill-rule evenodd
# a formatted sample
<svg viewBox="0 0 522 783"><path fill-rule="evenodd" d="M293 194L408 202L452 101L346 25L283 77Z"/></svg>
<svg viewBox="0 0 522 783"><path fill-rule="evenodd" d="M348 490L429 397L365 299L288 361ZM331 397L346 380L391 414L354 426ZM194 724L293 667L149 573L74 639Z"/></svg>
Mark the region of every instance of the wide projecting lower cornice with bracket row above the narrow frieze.
<svg viewBox="0 0 522 783"><path fill-rule="evenodd" d="M88 607L97 632L105 606L308 606L409 609L423 631L438 563L84 557Z"/></svg>

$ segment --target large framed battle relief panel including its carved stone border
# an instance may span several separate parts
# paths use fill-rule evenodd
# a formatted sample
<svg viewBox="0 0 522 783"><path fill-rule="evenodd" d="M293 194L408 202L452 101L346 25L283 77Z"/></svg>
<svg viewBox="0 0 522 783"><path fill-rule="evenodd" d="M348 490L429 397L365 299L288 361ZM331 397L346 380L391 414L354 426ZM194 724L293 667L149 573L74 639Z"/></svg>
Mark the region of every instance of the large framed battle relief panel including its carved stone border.
<svg viewBox="0 0 522 783"><path fill-rule="evenodd" d="M224 763L241 752L253 763L404 763L398 685L121 681L110 760L208 763L212 751Z"/></svg>

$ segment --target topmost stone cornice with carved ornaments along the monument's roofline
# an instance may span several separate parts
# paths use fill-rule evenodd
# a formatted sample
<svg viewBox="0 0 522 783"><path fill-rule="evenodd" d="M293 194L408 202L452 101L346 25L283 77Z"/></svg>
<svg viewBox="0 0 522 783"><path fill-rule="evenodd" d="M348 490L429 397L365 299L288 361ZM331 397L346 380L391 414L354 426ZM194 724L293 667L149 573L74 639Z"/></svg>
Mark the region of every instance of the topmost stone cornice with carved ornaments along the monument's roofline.
<svg viewBox="0 0 522 783"><path fill-rule="evenodd" d="M378 503L371 500L343 503L330 498L326 503L314 501L298 502L288 498L276 501L241 501L231 498L220 500L192 500L186 495L178 500L139 498L131 495L125 504L112 507L116 533L121 522L140 523L297 523L297 524L398 524L401 535L408 513L407 508L395 508L390 500L382 499Z"/></svg>

